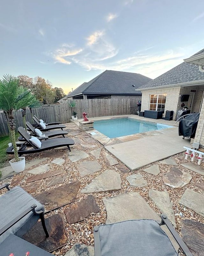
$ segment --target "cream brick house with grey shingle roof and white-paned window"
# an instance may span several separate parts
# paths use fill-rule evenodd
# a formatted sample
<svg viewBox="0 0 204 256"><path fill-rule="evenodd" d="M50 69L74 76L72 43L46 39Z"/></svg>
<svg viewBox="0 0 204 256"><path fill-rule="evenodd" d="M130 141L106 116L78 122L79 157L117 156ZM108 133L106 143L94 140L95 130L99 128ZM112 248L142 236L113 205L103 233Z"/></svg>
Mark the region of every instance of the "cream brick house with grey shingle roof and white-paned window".
<svg viewBox="0 0 204 256"><path fill-rule="evenodd" d="M204 55L204 50L200 51ZM200 52L192 57L200 55ZM172 68L166 73L142 85L142 108L145 110L173 111L175 120L178 110L185 104L188 113L200 112L203 91L204 73L199 68L186 61Z"/></svg>

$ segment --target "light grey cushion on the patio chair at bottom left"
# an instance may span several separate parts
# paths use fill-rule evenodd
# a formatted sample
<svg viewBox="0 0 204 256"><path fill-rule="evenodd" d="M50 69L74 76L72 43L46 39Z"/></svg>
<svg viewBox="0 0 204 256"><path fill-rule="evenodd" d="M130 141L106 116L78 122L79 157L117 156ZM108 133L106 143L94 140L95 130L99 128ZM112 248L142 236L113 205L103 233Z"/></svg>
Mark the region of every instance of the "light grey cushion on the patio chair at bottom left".
<svg viewBox="0 0 204 256"><path fill-rule="evenodd" d="M7 191L0 197L0 227L4 227L11 220L18 217L20 213L28 209L28 207L36 204L36 211L43 210L44 206L40 204L35 198L28 194L24 189L19 186ZM3 235L0 236L0 243L4 241L10 234L14 234L24 226L24 234L32 228L36 221L38 221L39 215L28 213L19 220L15 225L8 229Z"/></svg>

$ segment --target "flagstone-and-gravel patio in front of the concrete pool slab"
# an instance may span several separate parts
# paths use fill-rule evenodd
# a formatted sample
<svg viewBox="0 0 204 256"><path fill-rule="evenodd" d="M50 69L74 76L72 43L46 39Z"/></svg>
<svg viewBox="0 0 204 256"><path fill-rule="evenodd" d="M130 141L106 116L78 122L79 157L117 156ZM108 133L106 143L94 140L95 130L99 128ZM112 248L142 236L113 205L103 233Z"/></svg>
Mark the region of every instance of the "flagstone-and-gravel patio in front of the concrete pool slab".
<svg viewBox="0 0 204 256"><path fill-rule="evenodd" d="M25 171L15 174L5 167L4 180L0 182L0 185L5 182L20 185L31 193L44 204L46 218L62 214L68 236L53 254L94 256L94 226L129 219L159 220L160 213L168 216L178 232L183 230L181 235L193 252L204 251L202 243L192 245L198 241L198 232L204 233L201 225L204 222L203 162L200 167L196 162L192 166L190 159L185 160L185 154L179 153L131 171L94 136L79 130L74 123L65 125L70 130L67 137L76 140L71 152L59 148L26 156ZM108 139L106 143L113 141ZM199 172L195 171L198 168ZM183 222L186 218L191 222ZM194 235L189 242L186 237L192 225ZM167 235L178 248L168 232Z"/></svg>

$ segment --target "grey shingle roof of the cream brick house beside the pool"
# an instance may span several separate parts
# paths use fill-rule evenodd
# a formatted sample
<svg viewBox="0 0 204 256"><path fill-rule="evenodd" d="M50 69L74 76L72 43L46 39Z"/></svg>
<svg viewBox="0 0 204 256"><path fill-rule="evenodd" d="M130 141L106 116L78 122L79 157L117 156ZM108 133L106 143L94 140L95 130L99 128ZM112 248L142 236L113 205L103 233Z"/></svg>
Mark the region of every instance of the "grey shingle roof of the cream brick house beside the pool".
<svg viewBox="0 0 204 256"><path fill-rule="evenodd" d="M171 84L204 80L204 73L200 72L198 66L183 62L166 73L142 85L139 89L157 86L168 87Z"/></svg>

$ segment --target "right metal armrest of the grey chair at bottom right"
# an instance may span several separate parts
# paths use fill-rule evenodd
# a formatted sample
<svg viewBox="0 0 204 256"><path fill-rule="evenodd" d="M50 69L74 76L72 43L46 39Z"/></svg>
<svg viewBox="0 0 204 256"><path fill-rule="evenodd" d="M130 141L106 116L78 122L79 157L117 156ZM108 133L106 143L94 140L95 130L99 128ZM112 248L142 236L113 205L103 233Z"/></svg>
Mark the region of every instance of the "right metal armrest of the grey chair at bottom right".
<svg viewBox="0 0 204 256"><path fill-rule="evenodd" d="M187 256L191 256L192 255L193 256L192 252L188 249L188 247L186 246L186 244L184 243L182 238L176 232L176 230L174 229L174 227L172 226L171 222L166 217L166 215L165 214L161 214L160 218L161 218L161 223L159 223L159 225L160 226L161 225L166 225L167 226L167 228L169 229L169 231L171 232L172 236L174 237L176 242L179 244L180 248L185 253L185 255L187 255Z"/></svg>

